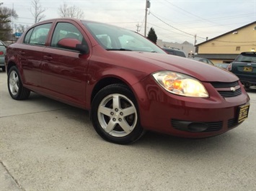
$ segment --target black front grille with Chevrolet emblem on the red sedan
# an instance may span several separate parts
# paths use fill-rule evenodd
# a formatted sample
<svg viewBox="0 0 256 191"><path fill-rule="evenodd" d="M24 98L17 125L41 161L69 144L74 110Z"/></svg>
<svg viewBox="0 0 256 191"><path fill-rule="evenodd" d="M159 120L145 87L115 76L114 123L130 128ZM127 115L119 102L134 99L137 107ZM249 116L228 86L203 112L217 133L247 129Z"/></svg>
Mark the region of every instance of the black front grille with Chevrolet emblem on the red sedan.
<svg viewBox="0 0 256 191"><path fill-rule="evenodd" d="M214 82L214 83L211 83L211 85L213 85L213 87L216 88L219 94L224 98L235 97L242 93L242 90L239 86L238 81L232 82L232 83ZM239 88L237 88L236 90L231 90L232 88L235 88L237 86L239 86Z"/></svg>

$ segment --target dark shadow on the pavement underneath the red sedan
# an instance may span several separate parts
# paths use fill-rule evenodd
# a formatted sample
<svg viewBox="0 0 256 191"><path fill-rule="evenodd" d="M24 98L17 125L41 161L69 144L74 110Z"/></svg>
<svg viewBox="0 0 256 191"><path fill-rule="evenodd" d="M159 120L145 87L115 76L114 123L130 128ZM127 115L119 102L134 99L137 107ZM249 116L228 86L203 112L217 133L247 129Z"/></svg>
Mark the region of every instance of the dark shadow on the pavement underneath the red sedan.
<svg viewBox="0 0 256 191"><path fill-rule="evenodd" d="M58 113L63 116L63 118L72 118L76 121L81 122L84 124L84 128L88 128L86 124L90 125L90 131L94 132L94 128L92 126L92 121L89 120L89 111L83 110L81 108L76 108L74 106L69 106L65 103L61 103L58 101L54 101L50 98L46 98L43 95L38 95L37 93L31 93L30 98L26 100L27 102L35 103L36 104L43 104L44 106L47 106L50 108L50 106L57 106L59 109ZM64 114L65 113L65 114ZM87 127L86 127L87 126ZM79 127L78 127L79 128ZM80 127L83 128L83 127ZM93 131L91 131L93 130ZM85 135L90 136L90 135ZM100 136L99 136L99 139ZM216 144L221 144L221 142L226 141L226 139L230 139L229 135L220 135L220 136L214 136L211 138L204 138L204 139L188 139L188 138L180 138L176 136L169 136L166 134L159 134L153 131L146 131L146 134L141 137L138 141L136 141L133 144L128 144L127 146L131 146L134 148L139 147L150 147L151 149L167 149L172 150L172 152L190 152L191 146L193 146L194 149L201 148L203 145L208 145L211 147L216 146ZM102 139L102 143L104 143L105 140Z"/></svg>

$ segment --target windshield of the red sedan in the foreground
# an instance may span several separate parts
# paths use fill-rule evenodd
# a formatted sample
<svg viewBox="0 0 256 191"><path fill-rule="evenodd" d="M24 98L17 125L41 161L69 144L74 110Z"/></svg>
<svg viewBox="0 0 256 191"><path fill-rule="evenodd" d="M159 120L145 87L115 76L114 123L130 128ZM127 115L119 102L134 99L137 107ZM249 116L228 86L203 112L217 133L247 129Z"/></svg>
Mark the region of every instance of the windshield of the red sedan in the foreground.
<svg viewBox="0 0 256 191"><path fill-rule="evenodd" d="M158 52L167 54L148 39L128 29L97 22L82 22L105 50Z"/></svg>

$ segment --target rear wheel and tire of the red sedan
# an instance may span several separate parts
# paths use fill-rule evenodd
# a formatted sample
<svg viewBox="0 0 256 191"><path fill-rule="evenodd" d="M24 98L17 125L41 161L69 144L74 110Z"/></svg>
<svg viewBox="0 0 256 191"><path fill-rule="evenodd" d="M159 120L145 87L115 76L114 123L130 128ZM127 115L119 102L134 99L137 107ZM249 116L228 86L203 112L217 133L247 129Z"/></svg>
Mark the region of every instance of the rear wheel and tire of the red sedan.
<svg viewBox="0 0 256 191"><path fill-rule="evenodd" d="M30 96L30 90L23 87L19 70L12 66L8 72L8 90L14 100L24 100Z"/></svg>

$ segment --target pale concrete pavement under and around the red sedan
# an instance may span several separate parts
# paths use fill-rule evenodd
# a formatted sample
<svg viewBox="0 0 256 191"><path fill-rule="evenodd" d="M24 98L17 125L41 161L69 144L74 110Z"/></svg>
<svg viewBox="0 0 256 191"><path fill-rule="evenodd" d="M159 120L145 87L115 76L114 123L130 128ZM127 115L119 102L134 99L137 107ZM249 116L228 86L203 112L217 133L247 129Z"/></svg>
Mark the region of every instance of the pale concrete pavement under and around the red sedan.
<svg viewBox="0 0 256 191"><path fill-rule="evenodd" d="M89 113L32 93L14 101L0 71L0 190L256 190L256 88L250 115L207 139L148 132L131 145L97 135Z"/></svg>

